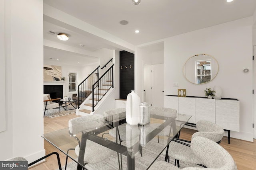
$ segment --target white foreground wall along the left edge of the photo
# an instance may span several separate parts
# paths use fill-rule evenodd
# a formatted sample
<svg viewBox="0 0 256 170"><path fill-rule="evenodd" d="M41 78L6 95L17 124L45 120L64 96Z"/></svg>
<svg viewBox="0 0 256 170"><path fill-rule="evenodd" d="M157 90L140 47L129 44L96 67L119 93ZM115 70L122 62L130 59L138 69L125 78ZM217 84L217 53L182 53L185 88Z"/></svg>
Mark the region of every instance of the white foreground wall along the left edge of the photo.
<svg viewBox="0 0 256 170"><path fill-rule="evenodd" d="M1 2L6 36L6 131L0 133L0 160L24 156L31 162L45 155L40 136L44 133L43 72L38 69L43 67L43 2Z"/></svg>

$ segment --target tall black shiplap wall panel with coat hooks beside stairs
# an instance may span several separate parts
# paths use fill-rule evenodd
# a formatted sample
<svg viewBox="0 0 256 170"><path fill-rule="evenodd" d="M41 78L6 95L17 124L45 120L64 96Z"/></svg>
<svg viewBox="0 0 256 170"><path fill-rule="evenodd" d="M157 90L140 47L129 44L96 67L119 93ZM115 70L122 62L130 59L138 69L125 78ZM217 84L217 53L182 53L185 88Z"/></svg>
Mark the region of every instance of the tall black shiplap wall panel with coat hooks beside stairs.
<svg viewBox="0 0 256 170"><path fill-rule="evenodd" d="M126 99L131 90L134 90L134 54L127 51L120 51L119 70L120 99Z"/></svg>

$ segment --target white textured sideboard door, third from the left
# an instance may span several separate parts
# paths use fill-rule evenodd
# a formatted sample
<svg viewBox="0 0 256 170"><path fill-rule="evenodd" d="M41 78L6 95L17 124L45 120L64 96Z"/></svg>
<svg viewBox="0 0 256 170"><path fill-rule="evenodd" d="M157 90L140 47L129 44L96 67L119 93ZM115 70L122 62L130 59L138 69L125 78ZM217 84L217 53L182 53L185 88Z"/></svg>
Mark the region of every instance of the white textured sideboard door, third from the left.
<svg viewBox="0 0 256 170"><path fill-rule="evenodd" d="M199 120L207 120L215 123L215 100L208 98L196 98L196 123Z"/></svg>

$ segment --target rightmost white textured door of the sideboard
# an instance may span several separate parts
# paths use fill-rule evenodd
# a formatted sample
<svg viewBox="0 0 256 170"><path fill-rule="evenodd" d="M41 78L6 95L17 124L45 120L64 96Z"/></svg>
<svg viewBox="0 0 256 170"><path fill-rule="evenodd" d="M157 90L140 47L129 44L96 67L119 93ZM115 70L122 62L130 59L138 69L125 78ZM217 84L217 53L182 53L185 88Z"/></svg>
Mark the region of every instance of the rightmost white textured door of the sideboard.
<svg viewBox="0 0 256 170"><path fill-rule="evenodd" d="M240 106L238 100L216 100L216 124L223 129L240 131Z"/></svg>

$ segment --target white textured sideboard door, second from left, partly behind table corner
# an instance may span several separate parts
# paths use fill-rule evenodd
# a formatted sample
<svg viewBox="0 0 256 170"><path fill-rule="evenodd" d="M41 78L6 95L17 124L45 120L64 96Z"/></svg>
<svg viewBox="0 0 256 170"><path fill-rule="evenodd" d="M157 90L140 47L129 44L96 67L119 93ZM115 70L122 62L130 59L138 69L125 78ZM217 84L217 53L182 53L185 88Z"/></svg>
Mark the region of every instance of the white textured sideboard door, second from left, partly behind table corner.
<svg viewBox="0 0 256 170"><path fill-rule="evenodd" d="M182 98L178 97L178 113L192 115L189 123L195 123L195 98Z"/></svg>

